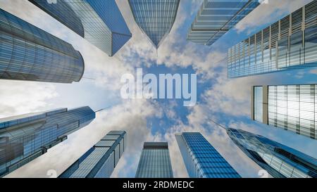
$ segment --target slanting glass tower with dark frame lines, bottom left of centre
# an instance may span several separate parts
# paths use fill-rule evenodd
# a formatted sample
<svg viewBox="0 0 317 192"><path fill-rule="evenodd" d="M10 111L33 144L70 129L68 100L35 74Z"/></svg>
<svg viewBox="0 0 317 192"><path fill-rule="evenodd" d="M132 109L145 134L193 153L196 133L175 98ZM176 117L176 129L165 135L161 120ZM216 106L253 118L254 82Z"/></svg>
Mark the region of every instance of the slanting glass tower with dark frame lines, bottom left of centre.
<svg viewBox="0 0 317 192"><path fill-rule="evenodd" d="M59 177L108 178L118 164L126 146L125 132L111 131Z"/></svg>

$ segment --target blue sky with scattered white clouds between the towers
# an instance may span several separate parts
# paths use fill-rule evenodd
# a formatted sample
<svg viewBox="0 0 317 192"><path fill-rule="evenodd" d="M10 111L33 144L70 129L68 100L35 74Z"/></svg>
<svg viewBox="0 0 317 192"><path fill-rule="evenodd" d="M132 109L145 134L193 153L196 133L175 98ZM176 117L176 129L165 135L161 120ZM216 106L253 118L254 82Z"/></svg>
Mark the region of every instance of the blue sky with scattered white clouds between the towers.
<svg viewBox="0 0 317 192"><path fill-rule="evenodd" d="M228 48L310 1L269 1L209 47L186 41L202 0L182 0L175 25L156 53L133 20L128 1L116 0L133 37L111 58L30 2L0 0L5 11L73 44L85 59L84 77L92 78L73 84L1 80L0 118L60 107L89 105L98 110L111 106L68 140L7 177L49 177L49 170L61 174L111 130L128 132L127 151L112 177L135 177L144 141L168 141L174 176L188 177L175 142L178 132L201 132L242 177L259 177L261 168L211 120L261 134L317 158L317 141L250 120L251 85L316 83L316 68L228 79L226 62ZM154 74L196 73L197 105L183 107L182 100L173 99L120 99L120 77L135 74L136 68Z"/></svg>

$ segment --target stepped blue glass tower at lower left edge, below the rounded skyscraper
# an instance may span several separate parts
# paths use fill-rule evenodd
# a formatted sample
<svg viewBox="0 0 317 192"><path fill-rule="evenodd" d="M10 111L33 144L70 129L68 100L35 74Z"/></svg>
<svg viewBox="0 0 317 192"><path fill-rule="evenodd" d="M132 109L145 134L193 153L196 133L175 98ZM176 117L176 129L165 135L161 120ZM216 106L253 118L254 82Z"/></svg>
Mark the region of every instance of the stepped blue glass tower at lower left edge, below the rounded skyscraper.
<svg viewBox="0 0 317 192"><path fill-rule="evenodd" d="M43 155L94 117L91 108L82 107L0 119L0 177Z"/></svg>

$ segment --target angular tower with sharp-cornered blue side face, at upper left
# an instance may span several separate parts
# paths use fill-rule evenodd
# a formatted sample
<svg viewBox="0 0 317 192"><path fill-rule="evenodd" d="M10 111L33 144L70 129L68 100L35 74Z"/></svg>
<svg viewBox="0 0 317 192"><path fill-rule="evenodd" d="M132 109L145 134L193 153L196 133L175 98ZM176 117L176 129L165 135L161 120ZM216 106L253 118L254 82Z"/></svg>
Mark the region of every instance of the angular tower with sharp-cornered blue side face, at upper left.
<svg viewBox="0 0 317 192"><path fill-rule="evenodd" d="M113 56L132 37L115 0L29 0L84 37L108 56Z"/></svg>

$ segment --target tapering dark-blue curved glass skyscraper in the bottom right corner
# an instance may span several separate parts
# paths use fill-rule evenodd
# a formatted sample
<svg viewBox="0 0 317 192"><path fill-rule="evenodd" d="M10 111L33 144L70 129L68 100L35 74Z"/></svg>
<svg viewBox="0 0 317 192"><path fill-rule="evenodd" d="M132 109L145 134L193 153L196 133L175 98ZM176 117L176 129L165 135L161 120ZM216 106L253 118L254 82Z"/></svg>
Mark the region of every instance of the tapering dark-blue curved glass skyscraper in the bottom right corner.
<svg viewBox="0 0 317 192"><path fill-rule="evenodd" d="M317 160L266 137L227 129L230 139L260 167L276 178L316 178Z"/></svg>

